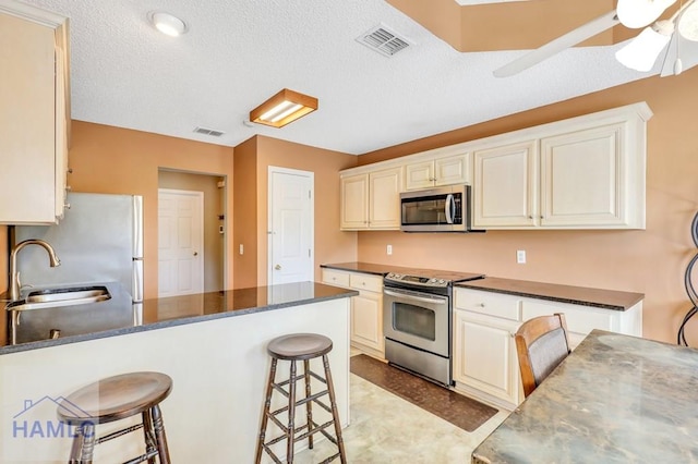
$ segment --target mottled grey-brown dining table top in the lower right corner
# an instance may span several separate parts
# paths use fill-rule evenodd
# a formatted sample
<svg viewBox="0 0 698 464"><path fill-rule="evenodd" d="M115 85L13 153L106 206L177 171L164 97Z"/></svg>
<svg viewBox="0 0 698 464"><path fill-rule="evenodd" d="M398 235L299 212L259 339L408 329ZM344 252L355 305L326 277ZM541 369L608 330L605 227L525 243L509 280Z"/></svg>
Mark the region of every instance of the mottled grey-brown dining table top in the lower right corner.
<svg viewBox="0 0 698 464"><path fill-rule="evenodd" d="M592 330L471 463L698 463L698 350Z"/></svg>

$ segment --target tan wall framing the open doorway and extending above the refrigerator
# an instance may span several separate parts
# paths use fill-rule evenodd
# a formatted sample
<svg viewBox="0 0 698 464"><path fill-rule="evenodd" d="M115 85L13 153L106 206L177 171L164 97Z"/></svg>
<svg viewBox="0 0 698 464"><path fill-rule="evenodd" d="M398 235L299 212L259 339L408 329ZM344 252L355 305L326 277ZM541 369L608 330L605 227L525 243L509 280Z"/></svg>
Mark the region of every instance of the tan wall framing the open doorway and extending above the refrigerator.
<svg viewBox="0 0 698 464"><path fill-rule="evenodd" d="M68 182L74 192L143 195L144 292L157 296L157 188L160 168L232 179L230 147L73 121ZM232 188L228 188L232 205ZM230 216L230 215L229 215ZM232 239L227 223L226 236ZM228 246L228 254L232 246ZM229 256L228 256L228 259ZM228 272L226 288L232 288Z"/></svg>

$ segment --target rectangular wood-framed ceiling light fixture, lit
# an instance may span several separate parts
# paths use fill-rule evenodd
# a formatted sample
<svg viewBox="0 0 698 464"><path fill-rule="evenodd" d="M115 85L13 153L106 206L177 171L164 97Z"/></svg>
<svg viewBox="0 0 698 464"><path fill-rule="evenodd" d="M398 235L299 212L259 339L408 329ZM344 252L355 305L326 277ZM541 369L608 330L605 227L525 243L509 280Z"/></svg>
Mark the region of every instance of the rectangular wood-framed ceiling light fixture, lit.
<svg viewBox="0 0 698 464"><path fill-rule="evenodd" d="M317 98L285 88L250 111L250 121L284 127L316 109Z"/></svg>

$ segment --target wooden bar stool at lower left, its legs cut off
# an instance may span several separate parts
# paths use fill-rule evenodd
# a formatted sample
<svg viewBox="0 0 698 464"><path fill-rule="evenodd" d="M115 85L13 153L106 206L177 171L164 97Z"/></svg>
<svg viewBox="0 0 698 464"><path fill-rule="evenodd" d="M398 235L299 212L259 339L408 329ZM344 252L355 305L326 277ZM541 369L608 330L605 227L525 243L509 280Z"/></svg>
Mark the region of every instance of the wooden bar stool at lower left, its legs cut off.
<svg viewBox="0 0 698 464"><path fill-rule="evenodd" d="M172 379L160 373L132 373L108 377L71 393L58 405L58 418L75 427L70 464L89 464L95 444L143 429L145 453L124 464L147 461L169 464L159 403L172 390ZM95 426L141 414L141 424L95 438Z"/></svg>

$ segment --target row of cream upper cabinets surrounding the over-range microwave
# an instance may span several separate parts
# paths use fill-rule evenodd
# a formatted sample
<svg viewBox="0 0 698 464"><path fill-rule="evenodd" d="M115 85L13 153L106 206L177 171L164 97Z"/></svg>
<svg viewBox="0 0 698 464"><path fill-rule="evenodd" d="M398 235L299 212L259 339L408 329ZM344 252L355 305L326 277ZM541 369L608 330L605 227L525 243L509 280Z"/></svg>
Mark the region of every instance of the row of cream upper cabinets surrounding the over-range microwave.
<svg viewBox="0 0 698 464"><path fill-rule="evenodd" d="M633 103L348 169L341 229L397 230L402 185L449 184L472 186L474 229L645 229L651 117Z"/></svg>

